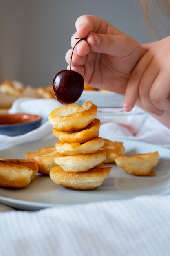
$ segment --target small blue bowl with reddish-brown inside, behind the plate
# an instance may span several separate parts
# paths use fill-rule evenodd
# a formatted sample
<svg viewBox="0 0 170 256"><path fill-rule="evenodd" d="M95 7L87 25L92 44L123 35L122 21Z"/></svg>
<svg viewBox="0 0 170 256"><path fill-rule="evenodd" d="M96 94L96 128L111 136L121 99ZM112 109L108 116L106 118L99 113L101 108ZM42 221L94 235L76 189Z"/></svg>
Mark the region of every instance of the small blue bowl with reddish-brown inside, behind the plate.
<svg viewBox="0 0 170 256"><path fill-rule="evenodd" d="M0 134L18 136L35 130L42 124L40 115L27 113L1 114Z"/></svg>

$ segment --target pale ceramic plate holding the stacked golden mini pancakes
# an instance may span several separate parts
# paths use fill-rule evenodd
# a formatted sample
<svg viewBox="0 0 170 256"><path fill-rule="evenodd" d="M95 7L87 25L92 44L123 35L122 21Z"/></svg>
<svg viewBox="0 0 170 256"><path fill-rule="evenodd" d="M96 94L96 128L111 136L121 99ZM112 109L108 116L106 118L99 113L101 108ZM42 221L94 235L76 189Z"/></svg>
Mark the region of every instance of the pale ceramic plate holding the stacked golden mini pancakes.
<svg viewBox="0 0 170 256"><path fill-rule="evenodd" d="M77 191L55 184L49 177L37 175L35 180L23 189L0 188L0 202L23 210L38 210L46 207L60 207L69 204L121 200L140 195L170 194L170 150L139 141L122 140L126 155L158 151L160 160L155 167L156 176L137 177L125 173L115 164L109 165L110 176L97 189ZM0 158L24 159L24 154L45 146L54 146L55 139L22 144L0 151Z"/></svg>

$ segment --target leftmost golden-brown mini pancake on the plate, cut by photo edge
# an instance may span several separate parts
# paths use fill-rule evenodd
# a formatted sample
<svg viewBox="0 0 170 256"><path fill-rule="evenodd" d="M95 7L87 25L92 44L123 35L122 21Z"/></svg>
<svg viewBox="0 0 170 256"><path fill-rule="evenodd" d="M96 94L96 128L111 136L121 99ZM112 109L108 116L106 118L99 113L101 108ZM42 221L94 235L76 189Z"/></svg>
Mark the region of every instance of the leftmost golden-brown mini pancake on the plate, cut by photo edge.
<svg viewBox="0 0 170 256"><path fill-rule="evenodd" d="M35 178L38 165L25 159L0 159L0 186L23 188Z"/></svg>

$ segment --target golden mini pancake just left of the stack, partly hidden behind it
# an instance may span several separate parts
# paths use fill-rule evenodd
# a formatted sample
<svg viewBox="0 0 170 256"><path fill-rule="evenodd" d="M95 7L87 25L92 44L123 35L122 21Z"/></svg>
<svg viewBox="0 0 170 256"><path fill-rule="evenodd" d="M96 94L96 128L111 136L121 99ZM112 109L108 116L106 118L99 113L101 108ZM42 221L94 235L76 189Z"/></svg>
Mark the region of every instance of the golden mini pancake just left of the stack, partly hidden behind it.
<svg viewBox="0 0 170 256"><path fill-rule="evenodd" d="M27 152L25 159L35 162L38 165L39 173L49 175L50 169L56 166L54 156L57 153L55 146L39 148L35 152Z"/></svg>

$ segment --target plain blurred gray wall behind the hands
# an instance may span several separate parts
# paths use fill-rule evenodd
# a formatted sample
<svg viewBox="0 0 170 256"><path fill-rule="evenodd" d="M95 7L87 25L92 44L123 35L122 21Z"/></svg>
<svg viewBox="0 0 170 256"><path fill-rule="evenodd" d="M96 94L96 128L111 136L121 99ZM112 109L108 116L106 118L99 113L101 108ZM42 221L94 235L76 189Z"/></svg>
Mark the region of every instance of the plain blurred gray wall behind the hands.
<svg viewBox="0 0 170 256"><path fill-rule="evenodd" d="M0 82L51 85L67 67L65 54L82 14L107 20L139 43L153 40L139 0L0 0ZM160 11L152 21L156 39L170 34L170 21Z"/></svg>

